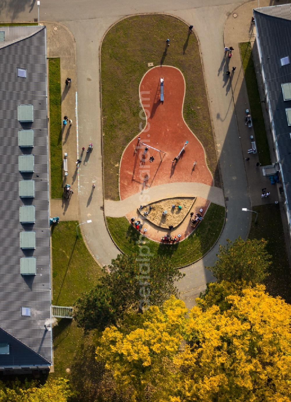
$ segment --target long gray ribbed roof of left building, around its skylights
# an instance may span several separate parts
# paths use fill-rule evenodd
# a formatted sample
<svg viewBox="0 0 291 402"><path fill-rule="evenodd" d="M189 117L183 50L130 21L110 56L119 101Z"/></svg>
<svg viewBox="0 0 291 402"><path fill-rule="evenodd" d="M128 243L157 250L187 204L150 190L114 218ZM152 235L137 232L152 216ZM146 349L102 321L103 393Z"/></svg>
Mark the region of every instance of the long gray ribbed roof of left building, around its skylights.
<svg viewBox="0 0 291 402"><path fill-rule="evenodd" d="M40 357L51 363L52 333L44 327L51 318L46 33L45 27L5 27L5 31L6 38L17 38L17 42L0 47L0 327L37 354L25 352L31 357L28 364L34 364L33 356L35 364ZM27 69L27 78L17 77L18 67ZM33 105L34 121L20 123L17 107L29 104ZM34 130L34 148L18 147L22 129ZM20 173L18 156L32 153L35 172ZM19 197L18 182L23 179L35 180L35 198ZM35 205L35 224L20 224L23 205ZM23 230L35 230L35 250L20 249ZM36 257L37 275L20 275L22 257ZM31 308L30 317L21 316L21 306ZM3 333L0 331L0 343ZM25 362L25 356L18 360ZM0 367L2 361L0 355Z"/></svg>

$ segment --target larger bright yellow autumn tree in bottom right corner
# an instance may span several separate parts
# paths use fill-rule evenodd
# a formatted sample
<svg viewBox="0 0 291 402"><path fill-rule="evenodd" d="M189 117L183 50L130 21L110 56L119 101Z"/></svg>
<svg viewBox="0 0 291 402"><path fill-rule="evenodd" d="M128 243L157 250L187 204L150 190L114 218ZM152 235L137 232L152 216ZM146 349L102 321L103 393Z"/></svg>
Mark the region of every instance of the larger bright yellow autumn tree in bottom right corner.
<svg viewBox="0 0 291 402"><path fill-rule="evenodd" d="M212 284L217 295L215 288L221 283ZM191 310L189 344L176 357L180 400L289 401L291 306L263 285L233 293L224 311L216 304L202 309L199 299Z"/></svg>

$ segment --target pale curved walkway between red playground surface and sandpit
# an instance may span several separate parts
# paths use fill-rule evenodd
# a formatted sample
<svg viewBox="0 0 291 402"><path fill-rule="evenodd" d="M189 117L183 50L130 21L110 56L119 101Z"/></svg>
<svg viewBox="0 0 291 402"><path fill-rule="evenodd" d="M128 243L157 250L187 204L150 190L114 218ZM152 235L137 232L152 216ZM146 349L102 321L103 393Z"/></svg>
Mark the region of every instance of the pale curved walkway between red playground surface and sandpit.
<svg viewBox="0 0 291 402"><path fill-rule="evenodd" d="M152 202L173 197L201 197L211 202L224 206L222 189L208 186L203 183L167 183L150 187L147 194ZM104 213L106 216L121 217L140 206L141 193L136 193L122 201L104 201Z"/></svg>

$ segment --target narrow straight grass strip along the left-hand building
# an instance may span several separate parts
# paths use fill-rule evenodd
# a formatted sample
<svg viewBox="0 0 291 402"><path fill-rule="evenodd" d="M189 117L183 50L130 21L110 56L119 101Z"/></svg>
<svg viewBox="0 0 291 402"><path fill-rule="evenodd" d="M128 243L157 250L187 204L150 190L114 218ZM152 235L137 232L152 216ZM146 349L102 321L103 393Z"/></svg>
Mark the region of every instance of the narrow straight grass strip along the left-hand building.
<svg viewBox="0 0 291 402"><path fill-rule="evenodd" d="M60 59L49 59L49 127L51 144L51 198L63 196Z"/></svg>

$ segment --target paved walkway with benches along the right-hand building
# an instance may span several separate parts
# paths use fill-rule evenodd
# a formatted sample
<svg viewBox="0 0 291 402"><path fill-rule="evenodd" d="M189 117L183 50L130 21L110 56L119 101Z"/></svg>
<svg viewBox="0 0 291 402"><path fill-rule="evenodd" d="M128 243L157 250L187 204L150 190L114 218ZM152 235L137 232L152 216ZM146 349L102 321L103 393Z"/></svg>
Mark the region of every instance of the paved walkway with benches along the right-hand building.
<svg viewBox="0 0 291 402"><path fill-rule="evenodd" d="M269 6L270 2L267 0L260 0L260 7ZM267 176L263 176L262 166L256 167L256 163L259 161L258 154L247 154L247 150L251 148L251 139L250 136L254 136L254 128L249 128L245 125L244 118L246 116L246 109L250 110L250 105L248 102L248 93L246 89L246 83L244 80L244 71L242 68L242 60L240 55L239 43L240 42L248 42L254 45L255 40L255 25L251 24L251 17L253 15L253 8L257 7L258 3L256 1L251 1L243 4L238 7L236 10L230 14L226 21L226 25L224 28L224 44L226 46L234 47L234 51L232 52L232 57L229 59L228 57L222 60L224 63L223 71L221 70L219 74L224 74L226 66L228 65L228 69L231 71L232 66L236 66L236 71L234 74L230 76L232 95L234 98L234 105L236 111L236 118L238 123L238 135L240 139L240 143L242 146L242 154L244 156L244 164L246 169L246 176L248 180L248 187L250 193L250 199L252 206L261 205L266 203L274 203L275 201L279 201L279 195L277 191L276 185L271 185L270 180ZM243 57L243 55L242 55ZM227 78L228 80L228 78ZM260 82L260 76L258 76L258 82ZM261 100L264 101L264 94L261 93ZM263 109L265 108L265 103L262 103ZM252 111L250 110L250 113ZM267 113L265 113L265 121L267 122L267 134L269 137L269 148L271 152L271 160L272 163L275 162L275 155L273 152L273 143L271 140L271 131L267 119ZM250 160L246 161L245 158L249 157ZM271 192L269 198L261 198L261 189L267 187L267 189Z"/></svg>

